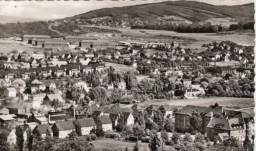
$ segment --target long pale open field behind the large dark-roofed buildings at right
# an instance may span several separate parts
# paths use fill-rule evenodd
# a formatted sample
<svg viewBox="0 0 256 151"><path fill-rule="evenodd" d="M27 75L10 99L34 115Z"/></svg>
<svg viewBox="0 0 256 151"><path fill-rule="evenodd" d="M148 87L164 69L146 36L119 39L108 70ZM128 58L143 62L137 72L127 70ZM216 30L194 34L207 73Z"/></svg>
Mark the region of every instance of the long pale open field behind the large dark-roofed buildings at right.
<svg viewBox="0 0 256 151"><path fill-rule="evenodd" d="M238 97L217 97L217 98L200 98L200 99L184 99L184 100L173 100L166 102L154 102L154 103L143 103L145 105L163 105L169 104L171 106L184 107L186 105L192 106L205 106L214 105L218 103L220 106L224 106L229 110L237 110L242 108L254 107L253 98L238 98Z"/></svg>

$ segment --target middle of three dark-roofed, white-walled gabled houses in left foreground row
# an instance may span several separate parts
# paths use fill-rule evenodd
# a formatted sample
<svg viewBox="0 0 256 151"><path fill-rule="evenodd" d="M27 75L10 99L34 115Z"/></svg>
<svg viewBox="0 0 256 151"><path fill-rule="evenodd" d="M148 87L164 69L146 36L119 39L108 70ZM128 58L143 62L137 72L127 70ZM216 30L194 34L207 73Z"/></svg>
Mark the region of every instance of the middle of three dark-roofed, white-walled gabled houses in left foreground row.
<svg viewBox="0 0 256 151"><path fill-rule="evenodd" d="M96 130L97 127L93 118L76 119L74 125L76 130L81 131L81 135L89 135L92 129Z"/></svg>

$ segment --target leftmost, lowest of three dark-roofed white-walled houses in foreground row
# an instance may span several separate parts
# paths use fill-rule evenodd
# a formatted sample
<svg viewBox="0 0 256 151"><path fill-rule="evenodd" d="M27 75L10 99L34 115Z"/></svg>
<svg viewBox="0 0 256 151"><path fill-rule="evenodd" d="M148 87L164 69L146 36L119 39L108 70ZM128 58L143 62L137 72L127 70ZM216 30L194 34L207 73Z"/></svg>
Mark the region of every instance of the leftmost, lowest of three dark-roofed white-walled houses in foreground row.
<svg viewBox="0 0 256 151"><path fill-rule="evenodd" d="M67 138L72 131L75 131L75 125L72 121L55 122L52 126L53 136L58 138Z"/></svg>

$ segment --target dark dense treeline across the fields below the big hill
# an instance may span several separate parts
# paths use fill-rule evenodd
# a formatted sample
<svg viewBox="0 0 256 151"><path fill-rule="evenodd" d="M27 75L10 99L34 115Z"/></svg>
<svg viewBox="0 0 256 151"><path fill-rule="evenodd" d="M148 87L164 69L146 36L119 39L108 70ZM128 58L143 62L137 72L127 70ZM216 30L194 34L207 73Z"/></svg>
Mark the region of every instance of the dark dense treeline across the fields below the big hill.
<svg viewBox="0 0 256 151"><path fill-rule="evenodd" d="M221 25L211 25L210 22L200 23L182 23L182 24L147 24L144 26L132 26L131 29L163 30L174 31L178 33L217 33L228 29Z"/></svg>

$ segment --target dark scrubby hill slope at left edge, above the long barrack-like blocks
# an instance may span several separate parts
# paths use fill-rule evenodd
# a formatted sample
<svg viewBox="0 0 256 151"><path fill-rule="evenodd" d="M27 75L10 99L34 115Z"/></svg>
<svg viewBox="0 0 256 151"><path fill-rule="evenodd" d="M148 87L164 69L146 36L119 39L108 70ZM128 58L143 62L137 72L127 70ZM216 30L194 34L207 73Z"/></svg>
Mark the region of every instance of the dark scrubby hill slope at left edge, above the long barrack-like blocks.
<svg viewBox="0 0 256 151"><path fill-rule="evenodd" d="M0 38L27 35L58 35L48 29L46 21L0 24Z"/></svg>

